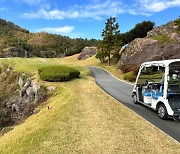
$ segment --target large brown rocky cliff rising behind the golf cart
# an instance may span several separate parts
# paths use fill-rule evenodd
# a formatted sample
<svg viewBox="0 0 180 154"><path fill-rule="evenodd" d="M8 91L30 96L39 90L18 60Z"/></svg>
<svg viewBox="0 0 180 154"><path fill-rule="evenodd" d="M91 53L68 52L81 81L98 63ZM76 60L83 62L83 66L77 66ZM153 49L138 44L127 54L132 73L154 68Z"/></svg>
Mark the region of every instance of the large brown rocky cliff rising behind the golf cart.
<svg viewBox="0 0 180 154"><path fill-rule="evenodd" d="M121 54L118 67L124 72L129 72L146 61L178 58L180 58L179 25L169 22L149 31L146 37L130 42Z"/></svg>

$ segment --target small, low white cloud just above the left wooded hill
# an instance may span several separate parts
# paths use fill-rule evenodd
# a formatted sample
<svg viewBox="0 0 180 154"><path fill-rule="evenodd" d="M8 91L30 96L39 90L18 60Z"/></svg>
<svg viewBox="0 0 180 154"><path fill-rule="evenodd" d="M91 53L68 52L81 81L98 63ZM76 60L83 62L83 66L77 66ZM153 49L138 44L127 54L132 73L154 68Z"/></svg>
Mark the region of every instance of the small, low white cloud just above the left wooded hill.
<svg viewBox="0 0 180 154"><path fill-rule="evenodd" d="M46 27L36 30L36 32L47 32L53 34L68 34L74 30L74 26L64 26L64 27Z"/></svg>

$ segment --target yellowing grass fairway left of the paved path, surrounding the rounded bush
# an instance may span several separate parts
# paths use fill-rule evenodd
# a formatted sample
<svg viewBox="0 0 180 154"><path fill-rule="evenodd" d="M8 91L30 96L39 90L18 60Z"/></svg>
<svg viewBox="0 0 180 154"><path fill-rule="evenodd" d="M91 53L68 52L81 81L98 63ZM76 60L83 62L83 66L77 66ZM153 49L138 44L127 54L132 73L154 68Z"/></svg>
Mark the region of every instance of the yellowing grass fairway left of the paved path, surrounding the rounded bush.
<svg viewBox="0 0 180 154"><path fill-rule="evenodd" d="M50 64L76 65L81 78L54 85L40 112L0 138L0 154L179 153L180 144L166 136L96 86L85 65L90 58L8 59L16 69L36 74ZM49 106L49 109L48 109Z"/></svg>

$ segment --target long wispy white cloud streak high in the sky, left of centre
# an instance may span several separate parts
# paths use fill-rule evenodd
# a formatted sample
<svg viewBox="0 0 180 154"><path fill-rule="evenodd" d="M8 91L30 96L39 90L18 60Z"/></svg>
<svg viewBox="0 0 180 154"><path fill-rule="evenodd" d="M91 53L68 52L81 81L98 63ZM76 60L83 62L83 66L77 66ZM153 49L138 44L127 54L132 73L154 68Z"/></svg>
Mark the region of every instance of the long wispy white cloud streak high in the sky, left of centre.
<svg viewBox="0 0 180 154"><path fill-rule="evenodd" d="M118 7L120 3L106 0L99 4L86 4L83 6L75 5L66 10L47 10L40 9L37 12L24 13L24 18L43 18L43 19L65 19L65 18L90 18L101 20L103 17L115 16L124 13L125 10Z"/></svg>

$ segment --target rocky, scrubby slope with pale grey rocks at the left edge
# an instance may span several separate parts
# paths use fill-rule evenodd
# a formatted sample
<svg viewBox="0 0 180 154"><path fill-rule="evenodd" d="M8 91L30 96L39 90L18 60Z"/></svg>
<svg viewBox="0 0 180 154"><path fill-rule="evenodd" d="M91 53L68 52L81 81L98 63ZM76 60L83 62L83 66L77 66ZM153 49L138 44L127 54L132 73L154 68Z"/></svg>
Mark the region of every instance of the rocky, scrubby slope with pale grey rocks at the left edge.
<svg viewBox="0 0 180 154"><path fill-rule="evenodd" d="M26 73L13 68L0 73L0 125L18 124L37 112L36 107L47 99L47 90Z"/></svg>

